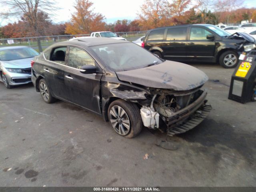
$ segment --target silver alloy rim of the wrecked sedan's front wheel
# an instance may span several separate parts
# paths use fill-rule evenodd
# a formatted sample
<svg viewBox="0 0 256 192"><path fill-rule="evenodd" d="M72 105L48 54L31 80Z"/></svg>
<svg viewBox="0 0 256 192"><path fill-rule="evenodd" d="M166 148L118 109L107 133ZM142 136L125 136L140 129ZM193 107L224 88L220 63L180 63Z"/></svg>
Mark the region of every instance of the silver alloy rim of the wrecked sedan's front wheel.
<svg viewBox="0 0 256 192"><path fill-rule="evenodd" d="M109 111L110 123L114 130L120 135L127 135L130 131L130 120L127 113L120 106L112 106Z"/></svg>

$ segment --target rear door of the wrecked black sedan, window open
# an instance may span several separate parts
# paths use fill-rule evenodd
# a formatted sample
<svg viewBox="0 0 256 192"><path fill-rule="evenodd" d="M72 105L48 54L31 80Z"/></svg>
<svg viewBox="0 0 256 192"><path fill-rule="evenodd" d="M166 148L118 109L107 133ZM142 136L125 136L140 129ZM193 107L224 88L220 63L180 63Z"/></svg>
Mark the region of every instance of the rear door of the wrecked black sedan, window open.
<svg viewBox="0 0 256 192"><path fill-rule="evenodd" d="M45 54L43 76L54 96L67 100L64 70L67 65L67 46L57 46Z"/></svg>

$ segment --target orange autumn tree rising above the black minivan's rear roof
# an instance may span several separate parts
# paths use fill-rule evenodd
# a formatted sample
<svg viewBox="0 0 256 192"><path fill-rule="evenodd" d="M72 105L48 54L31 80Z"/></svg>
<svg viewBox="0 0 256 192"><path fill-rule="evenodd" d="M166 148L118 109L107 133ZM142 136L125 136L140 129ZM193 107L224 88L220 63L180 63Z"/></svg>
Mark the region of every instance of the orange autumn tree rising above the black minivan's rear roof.
<svg viewBox="0 0 256 192"><path fill-rule="evenodd" d="M166 21L167 3L166 0L144 0L144 4L140 6L140 14L138 14L138 22L142 30L168 25Z"/></svg>

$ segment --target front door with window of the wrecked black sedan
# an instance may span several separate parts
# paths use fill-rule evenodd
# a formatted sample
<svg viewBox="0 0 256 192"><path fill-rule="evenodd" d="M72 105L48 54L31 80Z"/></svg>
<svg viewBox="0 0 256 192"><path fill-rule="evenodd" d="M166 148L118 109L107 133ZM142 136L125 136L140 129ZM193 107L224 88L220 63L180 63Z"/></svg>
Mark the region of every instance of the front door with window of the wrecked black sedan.
<svg viewBox="0 0 256 192"><path fill-rule="evenodd" d="M98 73L81 73L79 68L88 64L96 66ZM64 76L68 80L69 101L100 114L100 79L102 77L102 69L88 52L76 46L69 47L68 66Z"/></svg>

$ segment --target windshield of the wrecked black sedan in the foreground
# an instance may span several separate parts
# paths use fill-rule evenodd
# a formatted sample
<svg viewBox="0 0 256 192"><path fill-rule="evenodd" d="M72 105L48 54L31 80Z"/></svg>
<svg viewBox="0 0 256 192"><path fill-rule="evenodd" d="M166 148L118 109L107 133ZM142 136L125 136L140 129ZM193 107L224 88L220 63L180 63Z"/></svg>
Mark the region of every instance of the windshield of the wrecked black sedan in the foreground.
<svg viewBox="0 0 256 192"><path fill-rule="evenodd" d="M158 57L133 43L92 46L92 50L113 71L126 71L162 63Z"/></svg>

